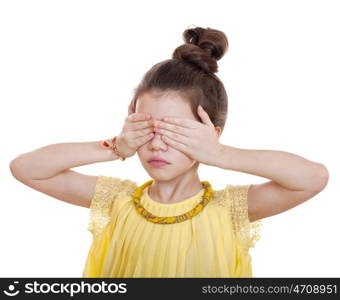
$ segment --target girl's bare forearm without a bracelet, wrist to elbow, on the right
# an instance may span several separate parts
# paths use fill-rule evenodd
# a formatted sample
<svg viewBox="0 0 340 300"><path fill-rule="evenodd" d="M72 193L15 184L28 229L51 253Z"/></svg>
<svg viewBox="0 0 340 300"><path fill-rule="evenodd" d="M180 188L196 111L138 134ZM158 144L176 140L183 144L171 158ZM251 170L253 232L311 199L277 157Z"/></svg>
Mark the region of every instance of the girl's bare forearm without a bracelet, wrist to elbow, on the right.
<svg viewBox="0 0 340 300"><path fill-rule="evenodd" d="M290 190L318 189L328 178L326 167L277 150L252 150L222 145L213 166L271 179Z"/></svg>

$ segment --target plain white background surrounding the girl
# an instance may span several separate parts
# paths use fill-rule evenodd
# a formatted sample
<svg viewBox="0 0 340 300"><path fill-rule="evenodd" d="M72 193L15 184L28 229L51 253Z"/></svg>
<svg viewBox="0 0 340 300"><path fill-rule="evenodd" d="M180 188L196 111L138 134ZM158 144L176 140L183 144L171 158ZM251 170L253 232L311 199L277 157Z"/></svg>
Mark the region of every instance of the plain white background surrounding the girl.
<svg viewBox="0 0 340 300"><path fill-rule="evenodd" d="M340 275L338 1L1 1L0 276L81 277L87 208L15 180L17 155L116 135L132 90L171 58L189 26L222 30L217 75L229 97L220 142L282 150L326 165L328 186L263 219L254 277ZM149 179L138 156L75 168ZM131 172L133 170L133 172ZM214 189L268 179L202 165Z"/></svg>

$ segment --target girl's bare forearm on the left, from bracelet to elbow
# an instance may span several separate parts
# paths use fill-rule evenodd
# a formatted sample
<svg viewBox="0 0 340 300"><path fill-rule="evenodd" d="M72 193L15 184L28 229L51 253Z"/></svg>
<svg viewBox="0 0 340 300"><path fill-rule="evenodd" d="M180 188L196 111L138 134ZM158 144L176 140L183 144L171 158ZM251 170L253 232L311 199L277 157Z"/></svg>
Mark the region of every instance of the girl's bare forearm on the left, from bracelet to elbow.
<svg viewBox="0 0 340 300"><path fill-rule="evenodd" d="M112 161L118 157L100 141L58 143L19 155L11 161L11 170L30 179L46 179L78 166Z"/></svg>

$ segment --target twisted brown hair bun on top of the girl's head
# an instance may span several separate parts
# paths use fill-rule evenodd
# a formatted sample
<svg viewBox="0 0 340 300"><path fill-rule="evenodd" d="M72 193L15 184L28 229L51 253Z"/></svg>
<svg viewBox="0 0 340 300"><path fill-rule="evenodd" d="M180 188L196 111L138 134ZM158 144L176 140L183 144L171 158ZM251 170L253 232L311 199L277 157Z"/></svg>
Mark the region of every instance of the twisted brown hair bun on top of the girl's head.
<svg viewBox="0 0 340 300"><path fill-rule="evenodd" d="M205 72L218 71L217 60L221 59L228 49L228 39L219 30L202 27L186 29L183 32L185 44L177 47L173 59L180 59L198 66Z"/></svg>

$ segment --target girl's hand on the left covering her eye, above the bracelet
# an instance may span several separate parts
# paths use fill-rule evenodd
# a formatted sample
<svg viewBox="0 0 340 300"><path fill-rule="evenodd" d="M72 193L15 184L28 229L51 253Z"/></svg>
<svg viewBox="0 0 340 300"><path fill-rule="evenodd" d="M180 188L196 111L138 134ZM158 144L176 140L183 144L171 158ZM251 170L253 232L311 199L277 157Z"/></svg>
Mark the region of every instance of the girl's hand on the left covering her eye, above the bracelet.
<svg viewBox="0 0 340 300"><path fill-rule="evenodd" d="M117 149L125 158L133 156L153 136L153 120L145 113L131 113L125 118L123 129L117 136Z"/></svg>

